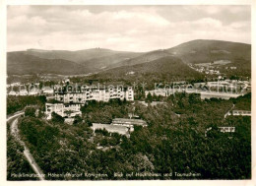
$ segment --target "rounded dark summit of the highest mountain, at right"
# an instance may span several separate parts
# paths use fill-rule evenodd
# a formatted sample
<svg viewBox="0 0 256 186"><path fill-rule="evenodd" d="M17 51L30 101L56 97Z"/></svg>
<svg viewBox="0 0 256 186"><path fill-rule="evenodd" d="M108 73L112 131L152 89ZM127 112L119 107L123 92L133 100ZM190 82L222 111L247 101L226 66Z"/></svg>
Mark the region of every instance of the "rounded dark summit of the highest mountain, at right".
<svg viewBox="0 0 256 186"><path fill-rule="evenodd" d="M222 40L192 40L165 50L187 63L209 63L216 60L251 59L251 45Z"/></svg>

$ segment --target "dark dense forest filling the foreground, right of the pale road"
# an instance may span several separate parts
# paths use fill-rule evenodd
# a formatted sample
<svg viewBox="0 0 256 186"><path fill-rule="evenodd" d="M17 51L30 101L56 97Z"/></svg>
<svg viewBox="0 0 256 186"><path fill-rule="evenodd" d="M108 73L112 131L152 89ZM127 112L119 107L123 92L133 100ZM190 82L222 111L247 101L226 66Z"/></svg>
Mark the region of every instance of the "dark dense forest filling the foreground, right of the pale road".
<svg viewBox="0 0 256 186"><path fill-rule="evenodd" d="M50 180L249 179L250 117L224 119L224 114L233 103L245 106L250 99L250 94L201 100L198 94L176 93L156 106L93 101L82 107L83 115L76 117L73 125L64 124L57 114L45 121L28 112L19 126L23 140ZM92 122L110 123L131 112L149 126L135 127L130 138L106 130L94 133L90 128ZM221 133L221 126L234 126L235 133Z"/></svg>

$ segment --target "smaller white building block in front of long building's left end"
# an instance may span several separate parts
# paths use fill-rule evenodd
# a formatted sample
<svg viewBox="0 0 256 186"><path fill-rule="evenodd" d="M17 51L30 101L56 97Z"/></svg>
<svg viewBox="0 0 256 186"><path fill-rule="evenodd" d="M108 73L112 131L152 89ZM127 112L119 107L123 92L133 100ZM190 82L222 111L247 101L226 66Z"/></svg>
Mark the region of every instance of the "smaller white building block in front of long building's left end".
<svg viewBox="0 0 256 186"><path fill-rule="evenodd" d="M81 104L64 104L64 103L46 103L45 114L46 119L51 119L51 113L55 112L61 117L74 117L82 115L80 111Z"/></svg>

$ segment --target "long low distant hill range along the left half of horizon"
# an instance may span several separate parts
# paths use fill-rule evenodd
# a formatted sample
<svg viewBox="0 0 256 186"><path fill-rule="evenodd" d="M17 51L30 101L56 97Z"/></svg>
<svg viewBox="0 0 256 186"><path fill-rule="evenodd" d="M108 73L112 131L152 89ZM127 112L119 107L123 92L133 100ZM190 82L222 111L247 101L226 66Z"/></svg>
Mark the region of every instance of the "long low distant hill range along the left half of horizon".
<svg viewBox="0 0 256 186"><path fill-rule="evenodd" d="M81 75L100 71L138 55L141 53L99 48L78 51L29 49L7 53L7 73Z"/></svg>

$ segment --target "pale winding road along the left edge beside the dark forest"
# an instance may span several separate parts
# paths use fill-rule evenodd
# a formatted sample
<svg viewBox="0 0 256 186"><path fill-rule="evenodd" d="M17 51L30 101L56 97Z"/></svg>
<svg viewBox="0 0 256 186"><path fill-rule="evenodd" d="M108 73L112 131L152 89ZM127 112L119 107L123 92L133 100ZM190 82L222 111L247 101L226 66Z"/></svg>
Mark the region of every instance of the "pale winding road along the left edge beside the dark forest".
<svg viewBox="0 0 256 186"><path fill-rule="evenodd" d="M26 144L21 140L19 136L19 128L18 128L18 119L21 115L23 115L24 112L16 112L13 116L8 117L7 122L11 122L11 134L14 136L14 138L24 147L24 155L28 159L30 165L32 166L33 171L38 176L39 180L44 180L44 174L41 171L40 167L36 164L32 154L30 153L29 148L26 146Z"/></svg>

